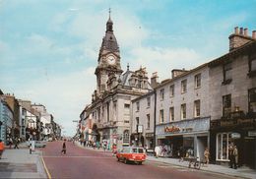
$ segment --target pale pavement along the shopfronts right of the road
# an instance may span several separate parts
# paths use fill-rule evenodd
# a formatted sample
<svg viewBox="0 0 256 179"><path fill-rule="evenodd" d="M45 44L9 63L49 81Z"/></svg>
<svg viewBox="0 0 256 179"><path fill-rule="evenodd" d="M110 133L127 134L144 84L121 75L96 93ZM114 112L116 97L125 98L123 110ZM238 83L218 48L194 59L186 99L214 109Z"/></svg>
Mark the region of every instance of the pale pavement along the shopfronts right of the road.
<svg viewBox="0 0 256 179"><path fill-rule="evenodd" d="M76 143L80 148L85 148L81 146L79 143ZM93 148L86 148L93 149ZM96 151L103 151L103 149L93 149ZM106 150L106 152L111 152L110 150ZM174 166L181 166L184 168L188 167L188 161L179 161L177 158L169 158L169 157L155 157L151 155L147 155L148 161L160 162L165 164L170 164ZM245 178L245 179L256 179L256 170L250 169L248 167L242 166L237 169L229 168L228 166L219 165L219 164L208 164L202 165L200 168L201 171L212 172L223 174L227 176L237 177L237 178Z"/></svg>

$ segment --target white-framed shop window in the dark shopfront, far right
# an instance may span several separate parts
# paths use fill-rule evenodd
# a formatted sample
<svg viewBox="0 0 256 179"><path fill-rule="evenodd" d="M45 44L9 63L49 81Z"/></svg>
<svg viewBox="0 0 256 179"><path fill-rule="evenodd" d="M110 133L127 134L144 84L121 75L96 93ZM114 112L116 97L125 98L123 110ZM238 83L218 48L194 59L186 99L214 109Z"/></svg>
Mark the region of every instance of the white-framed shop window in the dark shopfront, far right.
<svg viewBox="0 0 256 179"><path fill-rule="evenodd" d="M228 161L228 147L231 144L231 135L230 133L221 133L217 135L217 160L226 160Z"/></svg>

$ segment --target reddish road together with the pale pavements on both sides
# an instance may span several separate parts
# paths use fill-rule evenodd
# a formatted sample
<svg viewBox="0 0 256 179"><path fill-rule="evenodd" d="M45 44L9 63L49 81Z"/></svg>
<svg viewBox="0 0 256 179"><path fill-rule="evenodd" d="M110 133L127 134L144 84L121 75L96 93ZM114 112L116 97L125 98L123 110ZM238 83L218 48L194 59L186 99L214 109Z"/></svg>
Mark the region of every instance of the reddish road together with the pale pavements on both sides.
<svg viewBox="0 0 256 179"><path fill-rule="evenodd" d="M249 168L237 170L210 164L200 170L188 168L187 161L147 156L143 165L118 162L111 151L84 148L66 142L67 153L62 154L62 141L49 142L44 149L6 149L0 160L0 178L256 178Z"/></svg>

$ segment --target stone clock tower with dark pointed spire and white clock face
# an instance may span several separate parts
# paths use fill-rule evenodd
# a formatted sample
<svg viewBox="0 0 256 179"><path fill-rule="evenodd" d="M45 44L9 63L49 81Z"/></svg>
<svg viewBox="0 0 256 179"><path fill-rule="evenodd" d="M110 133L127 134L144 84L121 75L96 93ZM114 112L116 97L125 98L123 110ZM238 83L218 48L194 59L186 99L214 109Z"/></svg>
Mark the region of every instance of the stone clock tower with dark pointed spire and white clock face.
<svg viewBox="0 0 256 179"><path fill-rule="evenodd" d="M99 49L95 72L97 95L100 95L105 90L109 90L109 86L107 86L109 77L119 79L122 72L119 46L113 33L113 22L110 18L109 9L109 18L106 22L105 35L102 38L101 47Z"/></svg>

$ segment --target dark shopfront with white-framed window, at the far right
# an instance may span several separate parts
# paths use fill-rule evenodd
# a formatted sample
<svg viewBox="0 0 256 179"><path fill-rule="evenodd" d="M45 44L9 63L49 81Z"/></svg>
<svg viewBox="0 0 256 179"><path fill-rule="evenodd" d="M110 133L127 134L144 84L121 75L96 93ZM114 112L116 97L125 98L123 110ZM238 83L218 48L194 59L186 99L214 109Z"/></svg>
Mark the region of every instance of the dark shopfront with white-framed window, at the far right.
<svg viewBox="0 0 256 179"><path fill-rule="evenodd" d="M255 168L256 119L225 119L211 121L211 156L216 163L227 165L228 147L238 149L238 166Z"/></svg>

